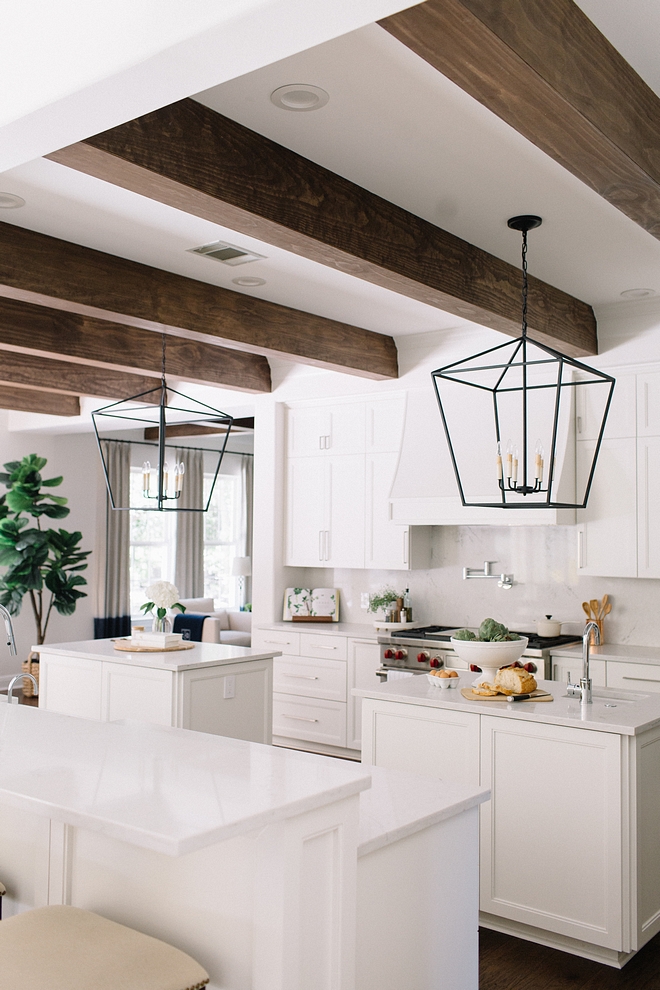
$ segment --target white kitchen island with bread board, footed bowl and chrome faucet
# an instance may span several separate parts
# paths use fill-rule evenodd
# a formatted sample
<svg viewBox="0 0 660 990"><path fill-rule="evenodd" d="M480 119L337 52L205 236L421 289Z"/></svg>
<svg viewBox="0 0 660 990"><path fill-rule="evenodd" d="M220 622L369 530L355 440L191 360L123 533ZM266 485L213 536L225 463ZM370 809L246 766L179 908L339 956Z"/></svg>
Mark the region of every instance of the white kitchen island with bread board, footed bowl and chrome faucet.
<svg viewBox="0 0 660 990"><path fill-rule="evenodd" d="M553 702L470 702L425 676L358 690L363 760L489 787L481 923L620 967L660 931L660 698L541 686Z"/></svg>

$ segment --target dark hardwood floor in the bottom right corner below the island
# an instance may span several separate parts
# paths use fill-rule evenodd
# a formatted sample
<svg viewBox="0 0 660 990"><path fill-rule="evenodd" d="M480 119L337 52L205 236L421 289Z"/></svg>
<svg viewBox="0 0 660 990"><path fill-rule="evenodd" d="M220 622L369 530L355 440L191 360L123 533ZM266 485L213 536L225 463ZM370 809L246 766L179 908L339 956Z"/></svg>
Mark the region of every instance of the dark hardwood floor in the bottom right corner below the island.
<svg viewBox="0 0 660 990"><path fill-rule="evenodd" d="M660 990L660 935L612 969L482 928L479 990Z"/></svg>

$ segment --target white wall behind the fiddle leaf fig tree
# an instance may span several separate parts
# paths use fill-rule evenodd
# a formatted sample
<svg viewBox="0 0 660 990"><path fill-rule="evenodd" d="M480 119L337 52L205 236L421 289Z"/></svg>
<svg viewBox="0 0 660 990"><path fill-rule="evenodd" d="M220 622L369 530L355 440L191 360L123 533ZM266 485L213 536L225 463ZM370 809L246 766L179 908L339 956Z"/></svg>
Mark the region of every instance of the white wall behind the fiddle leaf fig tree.
<svg viewBox="0 0 660 990"><path fill-rule="evenodd" d="M0 463L19 460L26 454L38 454L48 459L43 474L46 478L63 475L64 481L59 488L54 488L53 494L63 495L69 499L71 509L66 519L49 521L53 528L61 528L71 532L80 530L83 534L83 550L94 549L96 527L96 443L92 434L70 434L67 436L34 435L10 432L7 428L8 414L0 412ZM6 491L0 486L0 494ZM83 571L83 577L88 581L86 591L88 597L81 598L76 611L71 616L61 616L57 612L51 614L48 625L47 641L49 643L66 642L67 640L91 639L94 632L92 611L92 558L89 566ZM46 597L46 596L44 596ZM4 628L4 627L2 627ZM32 608L28 598L23 600L21 614L14 620L14 631L18 656L12 657L9 651L0 646L0 685L6 685L9 676L19 669L21 660L27 659L31 646L35 641L35 625Z"/></svg>

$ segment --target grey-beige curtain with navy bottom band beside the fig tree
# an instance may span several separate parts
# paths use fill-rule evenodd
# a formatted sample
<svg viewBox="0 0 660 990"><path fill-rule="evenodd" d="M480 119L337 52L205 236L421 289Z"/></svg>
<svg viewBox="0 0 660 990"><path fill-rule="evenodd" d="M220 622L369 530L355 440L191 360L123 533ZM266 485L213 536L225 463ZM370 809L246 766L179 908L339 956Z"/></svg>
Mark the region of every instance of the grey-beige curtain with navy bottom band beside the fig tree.
<svg viewBox="0 0 660 990"><path fill-rule="evenodd" d="M115 505L129 505L131 483L130 444L102 440L108 478ZM99 464L100 470L100 464ZM96 601L94 638L126 636L131 631L130 607L130 512L113 509L105 479L99 479L105 505L97 514Z"/></svg>

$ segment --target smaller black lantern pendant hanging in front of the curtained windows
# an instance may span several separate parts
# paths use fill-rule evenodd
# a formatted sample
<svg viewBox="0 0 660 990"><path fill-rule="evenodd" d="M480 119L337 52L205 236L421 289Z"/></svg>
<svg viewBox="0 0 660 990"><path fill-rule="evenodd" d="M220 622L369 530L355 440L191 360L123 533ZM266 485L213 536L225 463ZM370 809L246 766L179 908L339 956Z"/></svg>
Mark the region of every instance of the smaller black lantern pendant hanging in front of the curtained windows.
<svg viewBox="0 0 660 990"><path fill-rule="evenodd" d="M146 512L207 512L220 472L233 417L213 406L170 388L165 378L166 335L162 335L162 372L160 384L129 399L121 399L92 413L105 482L113 509L140 509ZM135 428L144 427L143 438L135 438ZM193 447L190 436L217 433L223 436L220 448ZM131 431L126 434L124 431ZM120 433L117 436L117 432ZM114 434L114 435L113 435ZM168 435L176 435L176 444L168 444ZM128 479L112 456L113 445L128 444L131 467L139 465L141 498L131 499ZM185 451L196 451L204 458L204 473L212 482L194 498L185 498ZM151 458L155 462L152 472ZM135 464L133 463L135 461ZM207 468L210 467L210 472ZM198 486L199 487L199 486ZM133 496L135 493L133 493Z"/></svg>

